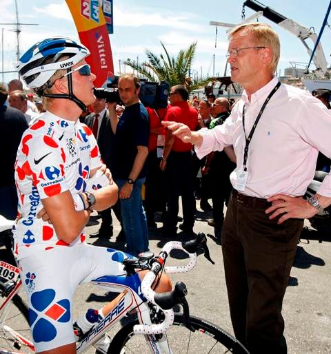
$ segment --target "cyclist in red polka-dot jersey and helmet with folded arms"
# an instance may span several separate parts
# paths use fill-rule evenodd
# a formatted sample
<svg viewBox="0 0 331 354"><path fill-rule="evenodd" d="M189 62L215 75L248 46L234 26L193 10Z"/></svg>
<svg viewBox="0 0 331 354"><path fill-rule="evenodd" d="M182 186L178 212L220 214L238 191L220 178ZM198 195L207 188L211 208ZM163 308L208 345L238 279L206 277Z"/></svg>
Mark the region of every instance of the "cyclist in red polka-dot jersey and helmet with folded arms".
<svg viewBox="0 0 331 354"><path fill-rule="evenodd" d="M125 273L124 253L84 242L92 209L114 205L118 194L92 132L79 122L95 100L96 76L85 61L89 54L81 43L58 37L33 45L17 65L46 108L23 134L15 163L14 256L38 353L76 353L72 297L77 285Z"/></svg>

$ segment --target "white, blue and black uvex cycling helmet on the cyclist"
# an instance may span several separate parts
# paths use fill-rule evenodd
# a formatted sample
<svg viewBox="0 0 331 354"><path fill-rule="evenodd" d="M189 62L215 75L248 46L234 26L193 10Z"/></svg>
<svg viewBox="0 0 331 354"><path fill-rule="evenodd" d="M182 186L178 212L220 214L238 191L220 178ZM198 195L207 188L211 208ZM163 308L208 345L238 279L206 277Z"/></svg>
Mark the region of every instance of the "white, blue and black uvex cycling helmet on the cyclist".
<svg viewBox="0 0 331 354"><path fill-rule="evenodd" d="M59 61L63 55L69 58ZM54 37L32 45L16 67L26 85L37 88L47 83L57 70L70 69L88 55L90 51L81 43L66 37Z"/></svg>

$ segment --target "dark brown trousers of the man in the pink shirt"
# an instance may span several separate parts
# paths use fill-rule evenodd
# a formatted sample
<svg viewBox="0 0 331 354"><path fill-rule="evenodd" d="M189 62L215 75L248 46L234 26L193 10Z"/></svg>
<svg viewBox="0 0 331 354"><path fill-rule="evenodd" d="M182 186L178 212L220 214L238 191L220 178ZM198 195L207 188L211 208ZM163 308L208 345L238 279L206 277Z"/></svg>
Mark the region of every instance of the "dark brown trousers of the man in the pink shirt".
<svg viewBox="0 0 331 354"><path fill-rule="evenodd" d="M277 225L232 195L221 242L234 334L251 354L287 353L281 308L303 220Z"/></svg>

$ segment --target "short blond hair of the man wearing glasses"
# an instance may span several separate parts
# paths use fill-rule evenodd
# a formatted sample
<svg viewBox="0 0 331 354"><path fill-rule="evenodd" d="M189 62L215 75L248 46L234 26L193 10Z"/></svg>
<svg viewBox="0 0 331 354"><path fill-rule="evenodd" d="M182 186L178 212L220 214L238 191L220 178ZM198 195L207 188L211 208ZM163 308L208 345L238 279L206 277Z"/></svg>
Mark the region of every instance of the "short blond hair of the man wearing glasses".
<svg viewBox="0 0 331 354"><path fill-rule="evenodd" d="M229 39L231 39L234 34L241 31L250 32L255 39L256 45L270 48L272 52L270 70L272 74L274 74L277 69L279 56L281 53L281 44L279 43L278 34L274 32L270 25L267 25L266 23L253 22L238 25L230 32Z"/></svg>

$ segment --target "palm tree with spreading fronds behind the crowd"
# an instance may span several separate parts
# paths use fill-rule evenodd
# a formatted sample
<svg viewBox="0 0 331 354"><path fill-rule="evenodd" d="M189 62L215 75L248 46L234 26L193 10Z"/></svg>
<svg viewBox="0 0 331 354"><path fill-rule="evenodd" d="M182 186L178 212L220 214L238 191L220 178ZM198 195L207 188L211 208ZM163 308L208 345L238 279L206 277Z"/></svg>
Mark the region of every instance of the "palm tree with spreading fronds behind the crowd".
<svg viewBox="0 0 331 354"><path fill-rule="evenodd" d="M167 81L172 87L173 85L185 85L189 91L195 90L202 85L205 85L208 79L191 79L188 77L188 72L194 59L197 42L192 43L188 49L180 50L177 58L170 56L168 50L161 42L165 56L152 53L146 50L148 61L139 64L131 59L127 59L126 65L137 70L139 74L143 75L148 81Z"/></svg>

